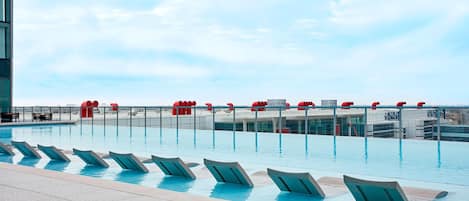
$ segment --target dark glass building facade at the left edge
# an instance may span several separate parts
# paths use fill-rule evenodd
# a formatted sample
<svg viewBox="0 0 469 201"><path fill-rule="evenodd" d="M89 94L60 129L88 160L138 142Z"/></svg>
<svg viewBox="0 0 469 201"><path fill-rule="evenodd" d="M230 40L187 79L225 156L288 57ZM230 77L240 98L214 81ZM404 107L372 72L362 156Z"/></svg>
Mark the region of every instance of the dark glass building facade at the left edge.
<svg viewBox="0 0 469 201"><path fill-rule="evenodd" d="M0 0L0 112L12 106L13 0Z"/></svg>

